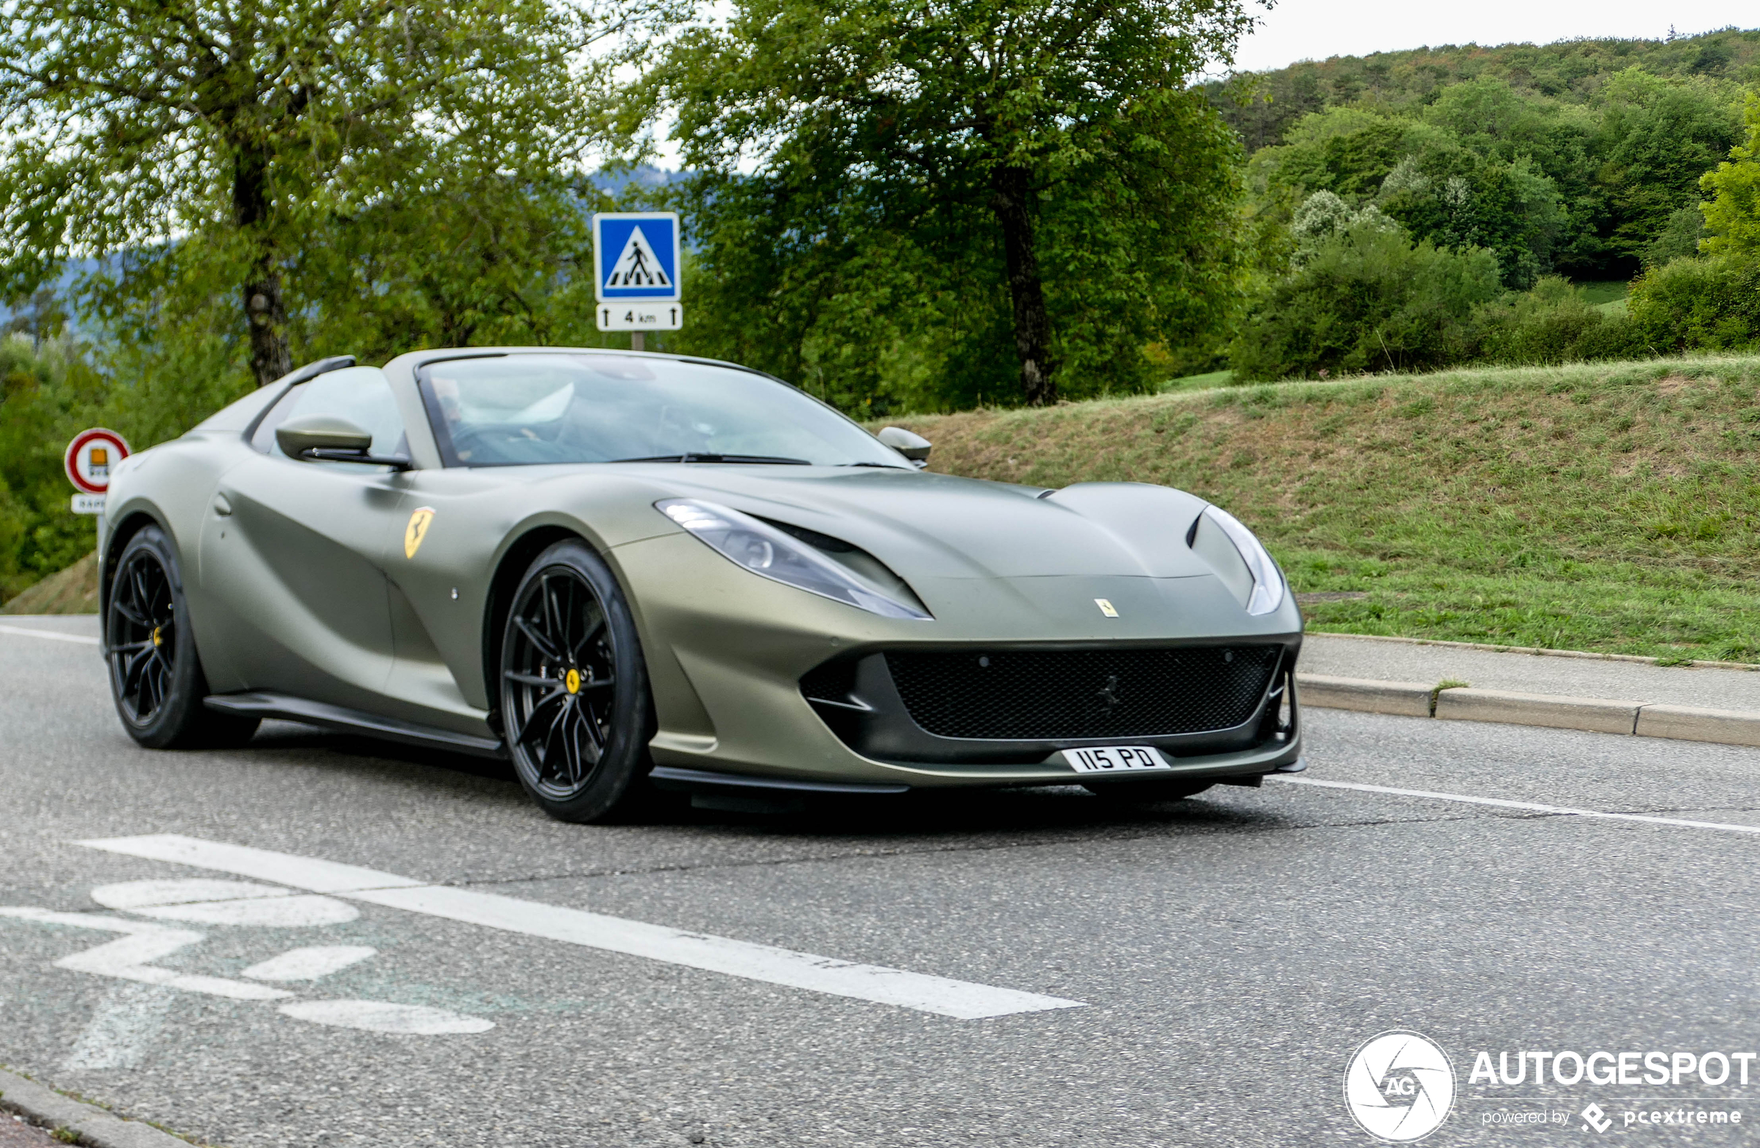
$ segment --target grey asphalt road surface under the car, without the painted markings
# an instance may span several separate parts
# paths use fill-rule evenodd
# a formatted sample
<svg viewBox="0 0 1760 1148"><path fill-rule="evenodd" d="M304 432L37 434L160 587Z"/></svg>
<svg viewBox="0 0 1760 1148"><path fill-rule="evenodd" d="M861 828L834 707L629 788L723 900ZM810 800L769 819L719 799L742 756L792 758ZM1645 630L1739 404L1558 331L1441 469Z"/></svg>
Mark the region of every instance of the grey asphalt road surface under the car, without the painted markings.
<svg viewBox="0 0 1760 1148"><path fill-rule="evenodd" d="M1633 1065L1760 1051L1760 750L1306 718L1304 776L1369 789L1281 782L1140 808L1012 791L583 828L544 819L495 766L296 725L241 752L139 750L92 646L0 629L0 907L37 912L0 916L0 1062L232 1148L1373 1144L1345 1067L1403 1028L1445 1049L1457 1081L1427 1144L1760 1139L1755 1060L1734 1062L1746 1086L1691 1069L1663 1085L1470 1079L1478 1051L1512 1072L1526 1049ZM352 894L308 898L306 924L114 909L127 891L102 893L106 909L93 889L248 879L79 843L139 835L1081 1005L957 1019ZM118 975L116 960L56 965L144 944L148 924L197 940L120 967L195 988ZM312 981L246 972L290 949L354 956ZM310 1019L334 1000L463 1030ZM1577 1115L1589 1102L1605 1132ZM1679 1120L1647 1123L1665 1109ZM1558 1122L1508 1123L1536 1115Z"/></svg>

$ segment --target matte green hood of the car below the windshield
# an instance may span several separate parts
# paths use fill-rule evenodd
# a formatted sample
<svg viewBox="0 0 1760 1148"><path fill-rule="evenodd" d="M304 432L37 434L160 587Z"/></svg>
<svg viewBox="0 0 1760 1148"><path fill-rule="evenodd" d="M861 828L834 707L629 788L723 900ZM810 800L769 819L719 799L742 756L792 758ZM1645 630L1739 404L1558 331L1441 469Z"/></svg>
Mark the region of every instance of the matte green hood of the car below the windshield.
<svg viewBox="0 0 1760 1148"><path fill-rule="evenodd" d="M704 498L843 539L903 578L1195 578L1186 546L1204 500L1139 482L1060 491L913 470L672 467L672 497Z"/></svg>

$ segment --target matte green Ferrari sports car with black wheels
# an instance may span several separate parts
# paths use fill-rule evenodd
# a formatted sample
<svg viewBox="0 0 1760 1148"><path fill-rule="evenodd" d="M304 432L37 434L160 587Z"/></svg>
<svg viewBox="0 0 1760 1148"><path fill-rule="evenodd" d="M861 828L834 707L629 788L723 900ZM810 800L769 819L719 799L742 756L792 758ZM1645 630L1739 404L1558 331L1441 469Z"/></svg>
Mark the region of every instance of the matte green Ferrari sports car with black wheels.
<svg viewBox="0 0 1760 1148"><path fill-rule="evenodd" d="M313 363L116 468L116 710L148 747L280 717L505 755L567 821L1301 768L1301 614L1239 521L928 449L704 359Z"/></svg>

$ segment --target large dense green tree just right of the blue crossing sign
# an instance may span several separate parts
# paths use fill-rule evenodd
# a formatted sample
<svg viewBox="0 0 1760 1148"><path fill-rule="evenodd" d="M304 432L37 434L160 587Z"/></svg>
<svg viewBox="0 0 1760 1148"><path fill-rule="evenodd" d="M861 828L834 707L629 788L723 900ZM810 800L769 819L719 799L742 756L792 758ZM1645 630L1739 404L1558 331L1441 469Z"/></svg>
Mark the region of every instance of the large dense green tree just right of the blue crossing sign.
<svg viewBox="0 0 1760 1148"><path fill-rule="evenodd" d="M1001 331L1051 403L1060 364L1232 303L1237 143L1188 85L1250 23L1243 0L739 0L679 37L651 111L704 173L706 271L797 313L797 357L831 315L875 347L942 324L975 370Z"/></svg>

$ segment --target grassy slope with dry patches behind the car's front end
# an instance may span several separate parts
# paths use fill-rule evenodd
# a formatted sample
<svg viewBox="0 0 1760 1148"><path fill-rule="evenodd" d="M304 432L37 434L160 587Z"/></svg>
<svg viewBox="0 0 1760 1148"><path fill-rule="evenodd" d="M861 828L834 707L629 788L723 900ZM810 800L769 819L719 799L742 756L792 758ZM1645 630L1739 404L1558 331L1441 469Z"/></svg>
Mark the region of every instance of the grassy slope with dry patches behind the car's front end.
<svg viewBox="0 0 1760 1148"><path fill-rule="evenodd" d="M1320 630L1753 662L1756 384L1760 357L1704 357L896 421L935 470L1195 491L1341 593Z"/></svg>

